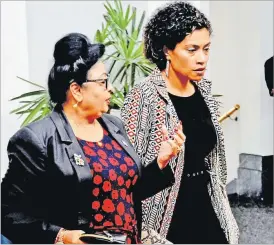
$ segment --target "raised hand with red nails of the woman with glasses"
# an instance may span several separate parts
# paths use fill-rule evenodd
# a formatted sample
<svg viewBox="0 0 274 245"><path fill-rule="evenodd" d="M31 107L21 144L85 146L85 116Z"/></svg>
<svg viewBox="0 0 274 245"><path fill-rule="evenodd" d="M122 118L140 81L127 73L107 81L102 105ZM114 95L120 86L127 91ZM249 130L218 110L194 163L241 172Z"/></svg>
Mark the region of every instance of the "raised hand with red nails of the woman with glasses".
<svg viewBox="0 0 274 245"><path fill-rule="evenodd" d="M180 122L177 128L175 128L175 134L170 138L165 125L162 128L162 134L164 141L161 144L157 163L160 169L167 166L169 160L176 156L182 149L182 145L185 142L186 136L183 133L183 126Z"/></svg>

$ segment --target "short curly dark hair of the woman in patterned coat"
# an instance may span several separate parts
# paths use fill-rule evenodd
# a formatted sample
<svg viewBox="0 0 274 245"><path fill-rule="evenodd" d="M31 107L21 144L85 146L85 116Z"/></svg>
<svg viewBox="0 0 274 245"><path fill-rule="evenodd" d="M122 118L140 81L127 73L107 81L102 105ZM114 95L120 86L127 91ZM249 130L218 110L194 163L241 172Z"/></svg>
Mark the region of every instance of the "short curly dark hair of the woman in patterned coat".
<svg viewBox="0 0 274 245"><path fill-rule="evenodd" d="M173 50L177 43L194 30L206 28L209 20L197 8L183 1L168 3L156 10L144 29L144 52L147 59L162 71L166 66L163 47Z"/></svg>

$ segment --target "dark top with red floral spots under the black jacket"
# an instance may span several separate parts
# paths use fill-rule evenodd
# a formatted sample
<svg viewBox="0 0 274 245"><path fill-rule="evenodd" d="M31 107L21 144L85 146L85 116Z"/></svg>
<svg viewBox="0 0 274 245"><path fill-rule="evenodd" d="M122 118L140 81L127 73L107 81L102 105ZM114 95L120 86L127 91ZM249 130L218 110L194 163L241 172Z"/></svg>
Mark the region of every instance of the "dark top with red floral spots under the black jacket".
<svg viewBox="0 0 274 245"><path fill-rule="evenodd" d="M138 179L136 163L105 129L101 142L78 140L93 181L90 228L123 232L128 244L141 243L132 198Z"/></svg>

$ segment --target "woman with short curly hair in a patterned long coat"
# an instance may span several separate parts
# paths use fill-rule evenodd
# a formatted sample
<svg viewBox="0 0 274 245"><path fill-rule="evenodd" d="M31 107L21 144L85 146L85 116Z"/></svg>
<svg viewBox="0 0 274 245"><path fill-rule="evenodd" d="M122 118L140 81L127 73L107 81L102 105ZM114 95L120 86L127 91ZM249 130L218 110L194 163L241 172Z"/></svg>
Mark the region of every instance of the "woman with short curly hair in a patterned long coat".
<svg viewBox="0 0 274 245"><path fill-rule="evenodd" d="M125 99L122 119L136 152L147 165L163 138L182 121L186 141L169 162L175 184L143 202L143 234L155 231L173 243L237 243L238 226L226 194L226 158L218 102L203 78L212 28L186 2L158 9L144 31L145 56L157 68ZM157 233L156 233L157 234Z"/></svg>

